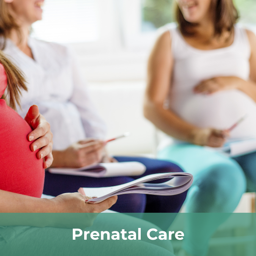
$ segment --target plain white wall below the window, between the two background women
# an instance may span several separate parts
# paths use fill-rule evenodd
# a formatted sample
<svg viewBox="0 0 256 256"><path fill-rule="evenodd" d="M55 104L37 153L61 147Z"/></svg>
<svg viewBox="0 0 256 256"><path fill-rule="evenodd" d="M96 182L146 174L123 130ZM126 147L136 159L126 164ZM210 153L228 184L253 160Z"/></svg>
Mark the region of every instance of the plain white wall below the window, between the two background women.
<svg viewBox="0 0 256 256"><path fill-rule="evenodd" d="M108 126L107 138L132 135L108 144L110 154L153 154L154 126L143 116L149 49L86 52L73 45L91 98ZM81 46L82 47L82 46Z"/></svg>

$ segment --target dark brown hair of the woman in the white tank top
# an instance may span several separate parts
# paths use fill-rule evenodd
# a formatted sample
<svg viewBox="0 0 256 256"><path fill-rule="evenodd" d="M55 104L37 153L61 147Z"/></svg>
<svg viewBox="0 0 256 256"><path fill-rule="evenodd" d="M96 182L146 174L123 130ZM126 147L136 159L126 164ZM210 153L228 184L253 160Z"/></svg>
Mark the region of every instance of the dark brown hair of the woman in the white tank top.
<svg viewBox="0 0 256 256"><path fill-rule="evenodd" d="M239 14L232 0L212 0L210 4L211 16L214 22L215 36L221 36L224 31L232 32ZM193 36L198 24L184 19L181 9L175 6L176 21L182 35Z"/></svg>

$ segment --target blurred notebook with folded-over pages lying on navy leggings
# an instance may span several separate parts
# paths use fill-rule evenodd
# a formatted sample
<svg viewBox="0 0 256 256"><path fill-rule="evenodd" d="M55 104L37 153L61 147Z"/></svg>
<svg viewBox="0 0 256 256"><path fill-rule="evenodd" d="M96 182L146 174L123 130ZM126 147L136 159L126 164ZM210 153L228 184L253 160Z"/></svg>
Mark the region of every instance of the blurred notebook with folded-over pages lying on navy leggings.
<svg viewBox="0 0 256 256"><path fill-rule="evenodd" d="M146 166L140 162L99 163L82 168L49 168L50 173L68 174L88 177L137 176L146 171Z"/></svg>

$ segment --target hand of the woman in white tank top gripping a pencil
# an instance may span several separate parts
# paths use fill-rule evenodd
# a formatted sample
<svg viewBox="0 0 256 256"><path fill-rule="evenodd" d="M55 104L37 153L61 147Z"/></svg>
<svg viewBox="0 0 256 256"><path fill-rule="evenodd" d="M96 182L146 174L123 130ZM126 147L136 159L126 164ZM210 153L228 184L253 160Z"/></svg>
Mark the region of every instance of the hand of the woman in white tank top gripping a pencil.
<svg viewBox="0 0 256 256"><path fill-rule="evenodd" d="M195 129L192 131L192 143L200 146L218 148L223 146L229 133L225 130L212 128Z"/></svg>

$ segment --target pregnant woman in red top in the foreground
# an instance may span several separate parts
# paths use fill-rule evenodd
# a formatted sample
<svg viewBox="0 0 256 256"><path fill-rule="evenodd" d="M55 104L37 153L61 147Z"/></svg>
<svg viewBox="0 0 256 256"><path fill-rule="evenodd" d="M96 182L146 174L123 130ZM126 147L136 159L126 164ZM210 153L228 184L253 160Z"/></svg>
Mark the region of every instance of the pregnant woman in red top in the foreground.
<svg viewBox="0 0 256 256"><path fill-rule="evenodd" d="M19 100L25 89L20 72L0 52L0 97L7 87L11 105ZM93 224L98 212L115 204L117 196L99 204L88 204L87 196L66 193L53 199L40 198L44 187L43 159L30 150L31 128L4 99L0 99L0 213L79 212L73 215L11 215L0 214L1 255L50 255L70 256L86 252L86 255L163 255L173 256L169 241L148 243L145 236L131 243L109 243L108 240L72 240L72 230L87 228ZM33 142L34 143L34 142ZM32 143L32 144L33 144ZM46 145L47 146L47 145ZM50 152L51 153L51 152ZM49 163L50 164L50 163ZM94 231L120 230L138 227L148 230L157 226L123 214L99 215L94 221ZM87 229L88 230L88 229ZM115 241L116 242L116 241Z"/></svg>

